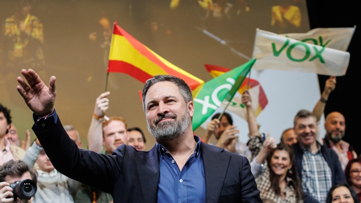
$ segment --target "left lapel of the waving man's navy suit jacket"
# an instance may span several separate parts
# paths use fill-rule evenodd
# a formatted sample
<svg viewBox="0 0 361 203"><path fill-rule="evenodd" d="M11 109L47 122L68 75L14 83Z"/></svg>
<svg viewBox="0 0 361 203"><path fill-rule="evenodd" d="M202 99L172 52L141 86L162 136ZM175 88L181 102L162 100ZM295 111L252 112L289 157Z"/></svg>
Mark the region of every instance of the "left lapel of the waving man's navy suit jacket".
<svg viewBox="0 0 361 203"><path fill-rule="evenodd" d="M134 152L138 153L138 152ZM158 182L160 176L159 156L157 148L154 146L149 152L137 154L136 165L142 188L144 202L157 202Z"/></svg>

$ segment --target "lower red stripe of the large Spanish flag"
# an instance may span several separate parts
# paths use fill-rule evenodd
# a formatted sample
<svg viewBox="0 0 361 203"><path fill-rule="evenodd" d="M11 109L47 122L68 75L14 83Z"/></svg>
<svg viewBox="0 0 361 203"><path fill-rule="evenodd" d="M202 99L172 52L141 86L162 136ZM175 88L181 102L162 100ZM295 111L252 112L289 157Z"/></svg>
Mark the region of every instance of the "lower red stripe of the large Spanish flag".
<svg viewBox="0 0 361 203"><path fill-rule="evenodd" d="M152 78L152 75L149 75L147 72L140 70L136 66L129 64L124 61L117 60L109 60L108 63L108 73L117 72L117 73L125 73L138 79L140 82L145 83L147 79Z"/></svg>

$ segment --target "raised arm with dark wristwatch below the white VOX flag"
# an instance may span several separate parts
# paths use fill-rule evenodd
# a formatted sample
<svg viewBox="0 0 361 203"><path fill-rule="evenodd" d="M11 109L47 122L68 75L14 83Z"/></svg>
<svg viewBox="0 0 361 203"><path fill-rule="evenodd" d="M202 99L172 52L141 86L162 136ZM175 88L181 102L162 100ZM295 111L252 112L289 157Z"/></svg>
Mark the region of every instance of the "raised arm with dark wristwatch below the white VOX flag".
<svg viewBox="0 0 361 203"><path fill-rule="evenodd" d="M331 75L329 79L326 80L325 89L321 94L321 98L318 100L316 106L313 108L313 114L317 118L317 122L321 120L323 111L325 111L326 102L329 99L330 93L334 91L336 87L336 76Z"/></svg>

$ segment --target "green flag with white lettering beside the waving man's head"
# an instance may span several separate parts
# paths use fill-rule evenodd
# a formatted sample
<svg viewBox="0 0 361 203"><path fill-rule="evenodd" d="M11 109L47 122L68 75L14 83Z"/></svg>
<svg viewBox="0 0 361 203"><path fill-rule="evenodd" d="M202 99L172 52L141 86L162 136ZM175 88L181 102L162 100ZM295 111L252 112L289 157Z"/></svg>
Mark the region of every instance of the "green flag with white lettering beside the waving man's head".
<svg viewBox="0 0 361 203"><path fill-rule="evenodd" d="M193 131L216 111L224 99L232 100L255 61L256 59L252 59L204 83L194 99Z"/></svg>

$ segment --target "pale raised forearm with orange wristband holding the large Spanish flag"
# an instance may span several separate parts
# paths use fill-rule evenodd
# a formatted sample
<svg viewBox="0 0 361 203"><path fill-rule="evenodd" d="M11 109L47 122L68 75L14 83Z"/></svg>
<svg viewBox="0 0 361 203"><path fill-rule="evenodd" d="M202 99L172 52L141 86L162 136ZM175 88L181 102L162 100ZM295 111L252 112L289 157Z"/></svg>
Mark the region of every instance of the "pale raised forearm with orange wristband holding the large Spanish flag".
<svg viewBox="0 0 361 203"><path fill-rule="evenodd" d="M103 146L103 128L101 119L109 108L109 99L106 98L110 92L104 92L96 98L94 113L88 131L88 149L97 153L101 152Z"/></svg>

